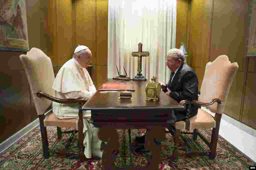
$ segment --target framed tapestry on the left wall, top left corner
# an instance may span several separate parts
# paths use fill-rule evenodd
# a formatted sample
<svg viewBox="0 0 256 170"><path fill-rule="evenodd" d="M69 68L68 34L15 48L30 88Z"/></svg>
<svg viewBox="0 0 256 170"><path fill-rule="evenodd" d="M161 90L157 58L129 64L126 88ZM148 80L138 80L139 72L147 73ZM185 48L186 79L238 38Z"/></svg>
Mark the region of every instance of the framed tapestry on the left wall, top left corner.
<svg viewBox="0 0 256 170"><path fill-rule="evenodd" d="M0 50L29 50L25 0L0 0Z"/></svg>

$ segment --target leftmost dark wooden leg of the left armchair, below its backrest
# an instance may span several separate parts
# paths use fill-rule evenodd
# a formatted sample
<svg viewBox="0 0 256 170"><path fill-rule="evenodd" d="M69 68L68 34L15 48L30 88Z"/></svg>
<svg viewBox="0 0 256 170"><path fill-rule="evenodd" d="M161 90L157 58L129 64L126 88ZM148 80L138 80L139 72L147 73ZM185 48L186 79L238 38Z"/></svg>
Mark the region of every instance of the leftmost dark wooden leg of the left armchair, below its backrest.
<svg viewBox="0 0 256 170"><path fill-rule="evenodd" d="M40 122L44 159L48 159L49 158L49 146L48 146L47 130L46 130L46 127L44 126L45 115L42 114L42 115L39 115L38 117L39 117L39 122Z"/></svg>

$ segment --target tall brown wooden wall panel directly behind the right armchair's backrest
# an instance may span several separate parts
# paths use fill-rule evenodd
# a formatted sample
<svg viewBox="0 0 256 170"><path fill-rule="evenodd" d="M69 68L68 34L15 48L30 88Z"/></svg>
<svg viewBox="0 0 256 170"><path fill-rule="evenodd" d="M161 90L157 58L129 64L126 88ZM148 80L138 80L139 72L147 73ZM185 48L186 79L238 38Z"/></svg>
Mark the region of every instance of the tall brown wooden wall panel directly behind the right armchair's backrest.
<svg viewBox="0 0 256 170"><path fill-rule="evenodd" d="M225 113L237 120L242 107L248 6L248 2L244 0L214 0L212 16L210 61L225 54L231 62L239 65L225 107Z"/></svg>

